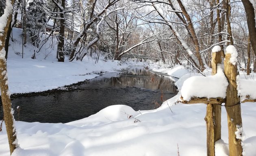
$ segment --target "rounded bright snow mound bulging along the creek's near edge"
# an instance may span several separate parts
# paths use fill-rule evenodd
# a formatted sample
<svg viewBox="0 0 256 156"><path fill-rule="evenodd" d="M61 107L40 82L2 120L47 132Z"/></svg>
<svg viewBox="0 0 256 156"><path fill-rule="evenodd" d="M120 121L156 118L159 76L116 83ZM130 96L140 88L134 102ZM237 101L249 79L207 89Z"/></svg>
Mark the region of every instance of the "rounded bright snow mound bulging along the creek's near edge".
<svg viewBox="0 0 256 156"><path fill-rule="evenodd" d="M95 126L102 125L114 121L120 121L127 119L128 115L132 115L133 117L139 115L140 113L136 112L130 106L126 105L113 105L108 106L98 113L91 115L85 119L80 119L77 121L72 121L67 123L72 126Z"/></svg>

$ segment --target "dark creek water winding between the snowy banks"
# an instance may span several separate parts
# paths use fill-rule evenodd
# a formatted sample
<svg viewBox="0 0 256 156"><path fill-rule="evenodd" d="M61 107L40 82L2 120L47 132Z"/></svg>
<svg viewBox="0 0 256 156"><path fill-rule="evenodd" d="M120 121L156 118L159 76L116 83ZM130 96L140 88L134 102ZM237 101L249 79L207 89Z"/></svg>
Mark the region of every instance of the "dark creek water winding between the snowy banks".
<svg viewBox="0 0 256 156"><path fill-rule="evenodd" d="M154 109L161 105L162 100L176 94L173 81L142 68L104 74L69 88L72 91L54 91L48 95L33 94L12 99L15 119L66 123L88 117L115 104L131 106L135 111ZM19 111L17 106L20 107Z"/></svg>

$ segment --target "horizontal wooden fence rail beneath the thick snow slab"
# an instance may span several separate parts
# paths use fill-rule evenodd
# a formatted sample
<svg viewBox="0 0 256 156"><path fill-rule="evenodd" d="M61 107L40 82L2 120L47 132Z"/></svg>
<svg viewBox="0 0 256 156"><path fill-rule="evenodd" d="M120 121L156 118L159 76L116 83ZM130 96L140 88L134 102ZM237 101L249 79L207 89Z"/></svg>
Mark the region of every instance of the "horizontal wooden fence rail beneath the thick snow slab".
<svg viewBox="0 0 256 156"><path fill-rule="evenodd" d="M226 99L223 98L191 98L189 101L183 100L183 97L180 97L180 101L183 104L222 104L223 102L226 102Z"/></svg>

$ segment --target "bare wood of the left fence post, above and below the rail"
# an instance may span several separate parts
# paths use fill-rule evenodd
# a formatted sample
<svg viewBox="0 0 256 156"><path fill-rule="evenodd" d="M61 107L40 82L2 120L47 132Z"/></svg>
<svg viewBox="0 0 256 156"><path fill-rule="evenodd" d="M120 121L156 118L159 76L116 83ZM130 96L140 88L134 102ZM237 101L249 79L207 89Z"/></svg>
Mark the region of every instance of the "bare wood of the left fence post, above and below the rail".
<svg viewBox="0 0 256 156"><path fill-rule="evenodd" d="M217 73L217 64L221 64L221 52L212 53L212 75ZM215 142L221 139L221 106L217 104L207 104L206 116L206 137L207 156L215 156Z"/></svg>

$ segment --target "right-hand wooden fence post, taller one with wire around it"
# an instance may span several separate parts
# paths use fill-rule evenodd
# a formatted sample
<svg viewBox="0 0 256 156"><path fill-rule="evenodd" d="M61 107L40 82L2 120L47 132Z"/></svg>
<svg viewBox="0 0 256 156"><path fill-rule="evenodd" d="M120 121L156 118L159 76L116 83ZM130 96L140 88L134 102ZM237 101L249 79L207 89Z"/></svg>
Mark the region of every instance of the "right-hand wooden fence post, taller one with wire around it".
<svg viewBox="0 0 256 156"><path fill-rule="evenodd" d="M229 46L227 47L227 49L229 48ZM231 55L234 54L230 54L227 52L224 61L224 73L229 83L226 92L227 96L225 105L228 115L229 156L242 156L243 149L241 145L241 134L235 134L238 129L242 130L240 97L237 95L236 84L236 76L238 75L238 72L236 64L233 65L232 63L230 63Z"/></svg>

